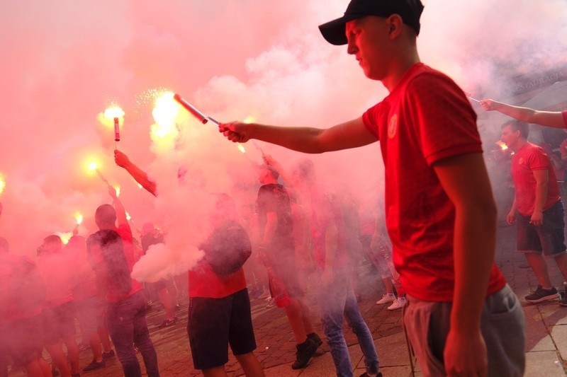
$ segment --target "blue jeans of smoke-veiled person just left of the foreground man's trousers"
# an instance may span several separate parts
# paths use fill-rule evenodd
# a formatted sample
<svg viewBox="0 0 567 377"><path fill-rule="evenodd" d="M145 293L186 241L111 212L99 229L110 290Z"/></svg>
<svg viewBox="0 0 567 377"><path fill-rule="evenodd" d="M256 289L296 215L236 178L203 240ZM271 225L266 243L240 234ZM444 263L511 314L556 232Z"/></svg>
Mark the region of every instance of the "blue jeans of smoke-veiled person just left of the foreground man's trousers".
<svg viewBox="0 0 567 377"><path fill-rule="evenodd" d="M331 349L337 376L352 377L352 364L347 342L342 333L343 315L349 327L357 335L359 346L364 354L364 365L368 373L378 373L378 354L374 347L372 334L359 311L357 298L345 274L335 272L335 280L328 286L318 287L318 304L323 332Z"/></svg>

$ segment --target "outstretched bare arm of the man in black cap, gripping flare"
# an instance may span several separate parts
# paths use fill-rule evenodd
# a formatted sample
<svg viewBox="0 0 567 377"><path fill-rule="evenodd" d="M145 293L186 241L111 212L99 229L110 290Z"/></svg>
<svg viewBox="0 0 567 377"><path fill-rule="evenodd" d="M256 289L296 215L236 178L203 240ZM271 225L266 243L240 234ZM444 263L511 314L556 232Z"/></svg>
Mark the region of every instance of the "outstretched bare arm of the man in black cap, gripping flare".
<svg viewBox="0 0 567 377"><path fill-rule="evenodd" d="M232 122L220 124L219 132L227 139L244 143L258 139L304 153L323 153L357 148L374 143L376 137L366 129L362 117L329 129L313 127L277 127L264 124Z"/></svg>

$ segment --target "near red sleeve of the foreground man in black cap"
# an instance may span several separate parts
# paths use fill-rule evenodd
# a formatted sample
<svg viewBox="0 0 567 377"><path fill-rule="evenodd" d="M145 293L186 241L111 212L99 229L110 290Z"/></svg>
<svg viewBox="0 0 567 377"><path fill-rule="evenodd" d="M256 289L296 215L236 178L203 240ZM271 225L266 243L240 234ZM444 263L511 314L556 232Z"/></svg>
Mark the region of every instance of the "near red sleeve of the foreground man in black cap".
<svg viewBox="0 0 567 377"><path fill-rule="evenodd" d="M443 74L420 74L408 84L406 103L428 165L465 153L482 153L476 113L461 88Z"/></svg>

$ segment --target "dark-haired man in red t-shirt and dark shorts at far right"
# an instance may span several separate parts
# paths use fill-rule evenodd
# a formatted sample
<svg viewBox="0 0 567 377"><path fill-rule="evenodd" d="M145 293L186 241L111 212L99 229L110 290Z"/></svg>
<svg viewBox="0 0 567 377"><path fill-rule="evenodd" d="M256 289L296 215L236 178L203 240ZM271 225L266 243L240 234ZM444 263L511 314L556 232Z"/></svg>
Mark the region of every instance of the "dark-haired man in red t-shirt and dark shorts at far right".
<svg viewBox="0 0 567 377"><path fill-rule="evenodd" d="M541 146L527 141L529 125L510 121L502 126L502 141L515 151L510 172L515 187L514 202L507 214L508 224L517 224L517 250L525 253L539 283L526 301L556 300L544 256L553 257L563 279L567 280L567 253L563 202L551 161ZM543 254L543 255L542 255ZM567 306L567 297L559 301Z"/></svg>

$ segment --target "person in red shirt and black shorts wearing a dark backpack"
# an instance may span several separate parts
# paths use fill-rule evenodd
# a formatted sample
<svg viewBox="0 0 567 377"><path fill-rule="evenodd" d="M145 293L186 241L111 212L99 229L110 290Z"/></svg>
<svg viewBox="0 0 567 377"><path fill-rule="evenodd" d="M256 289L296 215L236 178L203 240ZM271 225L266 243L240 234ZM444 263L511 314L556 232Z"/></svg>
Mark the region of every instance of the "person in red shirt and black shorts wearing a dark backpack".
<svg viewBox="0 0 567 377"><path fill-rule="evenodd" d="M223 245L223 239L217 238L228 226L240 228L245 238L241 240L242 245L249 247L249 238L237 219L232 198L218 195L210 216L213 232L201 245L205 257L189 270L187 333L193 366L201 369L205 376L226 375L229 344L246 376L264 376L262 365L254 355L256 340L244 269L239 267L234 272L221 274L215 271L208 257L210 250L228 247Z"/></svg>

